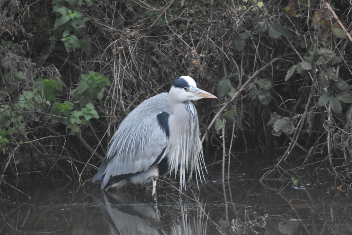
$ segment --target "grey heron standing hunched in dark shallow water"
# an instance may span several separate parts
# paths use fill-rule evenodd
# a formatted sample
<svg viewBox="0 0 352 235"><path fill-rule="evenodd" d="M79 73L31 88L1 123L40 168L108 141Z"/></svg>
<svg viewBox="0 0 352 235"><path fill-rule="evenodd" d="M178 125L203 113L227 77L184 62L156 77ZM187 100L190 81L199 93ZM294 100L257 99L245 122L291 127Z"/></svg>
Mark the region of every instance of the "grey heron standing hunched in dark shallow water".
<svg viewBox="0 0 352 235"><path fill-rule="evenodd" d="M190 101L216 98L197 88L189 76L172 82L168 93L139 104L121 122L106 157L92 181L101 188L144 184L153 176L180 172L180 190L186 187L188 162L203 176L204 164L197 111ZM153 180L153 194L156 181Z"/></svg>

